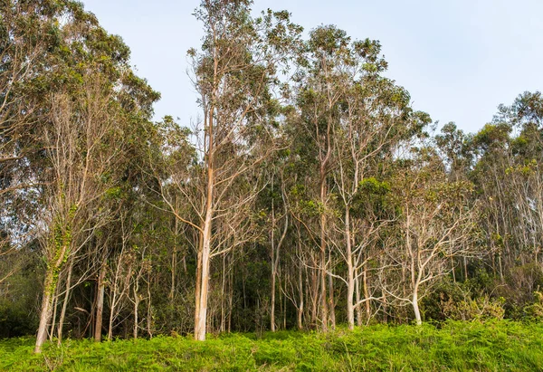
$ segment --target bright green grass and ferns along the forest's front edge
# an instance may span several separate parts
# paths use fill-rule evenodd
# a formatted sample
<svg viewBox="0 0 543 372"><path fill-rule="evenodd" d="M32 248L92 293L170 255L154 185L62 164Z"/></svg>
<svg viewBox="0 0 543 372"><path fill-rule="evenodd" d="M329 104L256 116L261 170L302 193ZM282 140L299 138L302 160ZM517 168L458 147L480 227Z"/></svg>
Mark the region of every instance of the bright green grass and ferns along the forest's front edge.
<svg viewBox="0 0 543 372"><path fill-rule="evenodd" d="M33 339L0 340L6 371L537 371L543 325L510 321L230 334L94 343L66 340L33 355Z"/></svg>

